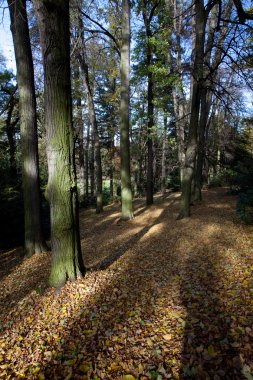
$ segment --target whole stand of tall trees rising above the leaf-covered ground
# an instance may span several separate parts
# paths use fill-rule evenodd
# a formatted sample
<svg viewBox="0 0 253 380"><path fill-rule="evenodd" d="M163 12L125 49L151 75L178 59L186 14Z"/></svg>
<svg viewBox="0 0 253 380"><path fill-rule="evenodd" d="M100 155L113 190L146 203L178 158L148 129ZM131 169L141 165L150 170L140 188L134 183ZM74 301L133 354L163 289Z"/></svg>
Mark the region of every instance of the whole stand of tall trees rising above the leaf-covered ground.
<svg viewBox="0 0 253 380"><path fill-rule="evenodd" d="M8 8L17 77L1 56L3 184L16 186L22 173L29 256L47 249L47 183L50 283L60 287L85 273L78 198L100 213L105 194L120 193L127 220L135 194L150 205L173 182L183 218L224 172L243 133L253 13L240 0L8 0Z"/></svg>

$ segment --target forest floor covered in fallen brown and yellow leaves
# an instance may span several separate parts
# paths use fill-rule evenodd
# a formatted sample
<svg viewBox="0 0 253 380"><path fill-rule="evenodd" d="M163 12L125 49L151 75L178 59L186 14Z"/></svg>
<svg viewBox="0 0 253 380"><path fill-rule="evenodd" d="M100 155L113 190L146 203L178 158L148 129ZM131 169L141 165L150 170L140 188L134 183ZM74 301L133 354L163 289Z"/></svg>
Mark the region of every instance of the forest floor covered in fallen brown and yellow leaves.
<svg viewBox="0 0 253 380"><path fill-rule="evenodd" d="M0 378L253 379L253 227L226 189L80 213L88 272L47 288L50 254L0 257Z"/></svg>

